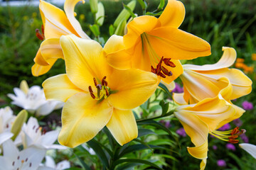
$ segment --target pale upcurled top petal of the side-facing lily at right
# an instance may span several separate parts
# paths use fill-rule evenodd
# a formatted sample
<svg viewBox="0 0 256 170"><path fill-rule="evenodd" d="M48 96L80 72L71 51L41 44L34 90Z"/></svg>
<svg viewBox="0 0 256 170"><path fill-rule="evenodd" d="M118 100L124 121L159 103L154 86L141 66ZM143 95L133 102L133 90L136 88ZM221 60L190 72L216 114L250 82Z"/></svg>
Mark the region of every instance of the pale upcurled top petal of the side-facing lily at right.
<svg viewBox="0 0 256 170"><path fill-rule="evenodd" d="M223 69L234 64L236 59L236 52L233 47L223 47L223 56L215 64L205 64L202 66L193 64L184 64L184 69L191 69L194 71L210 71L215 69Z"/></svg>

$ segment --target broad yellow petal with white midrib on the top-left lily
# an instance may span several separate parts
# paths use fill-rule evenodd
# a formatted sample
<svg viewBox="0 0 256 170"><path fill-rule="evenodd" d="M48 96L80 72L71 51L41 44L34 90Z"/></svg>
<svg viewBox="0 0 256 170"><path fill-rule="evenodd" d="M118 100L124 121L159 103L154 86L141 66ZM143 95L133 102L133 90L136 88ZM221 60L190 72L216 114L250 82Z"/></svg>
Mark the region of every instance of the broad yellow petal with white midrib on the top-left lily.
<svg viewBox="0 0 256 170"><path fill-rule="evenodd" d="M39 8L41 16L46 20L46 23L44 24L46 39L60 38L61 35L68 35L71 33L78 35L68 21L64 11L60 8L42 0L40 1Z"/></svg>

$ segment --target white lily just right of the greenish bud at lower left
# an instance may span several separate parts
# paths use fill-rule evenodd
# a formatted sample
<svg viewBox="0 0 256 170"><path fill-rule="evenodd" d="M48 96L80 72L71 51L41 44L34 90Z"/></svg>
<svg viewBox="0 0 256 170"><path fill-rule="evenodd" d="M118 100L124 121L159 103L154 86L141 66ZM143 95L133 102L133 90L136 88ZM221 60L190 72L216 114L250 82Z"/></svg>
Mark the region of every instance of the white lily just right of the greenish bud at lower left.
<svg viewBox="0 0 256 170"><path fill-rule="evenodd" d="M67 147L53 144L58 138L59 131L52 130L50 132L45 132L45 130L42 130L38 125L38 120L36 118L29 118L28 123L23 125L22 131L24 148L35 146L43 149L67 149Z"/></svg>

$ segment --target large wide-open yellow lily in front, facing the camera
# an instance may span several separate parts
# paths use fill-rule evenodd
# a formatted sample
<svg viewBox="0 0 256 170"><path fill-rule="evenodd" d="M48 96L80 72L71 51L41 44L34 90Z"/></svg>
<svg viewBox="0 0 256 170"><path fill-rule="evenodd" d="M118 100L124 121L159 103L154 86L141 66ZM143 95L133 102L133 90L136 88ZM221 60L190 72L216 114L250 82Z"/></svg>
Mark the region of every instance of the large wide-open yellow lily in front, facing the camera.
<svg viewBox="0 0 256 170"><path fill-rule="evenodd" d="M62 112L61 145L76 147L91 140L107 126L119 145L138 135L132 113L154 93L160 79L140 69L110 67L101 45L75 35L60 38L67 74L43 82L48 100L65 102ZM93 49L93 50L92 50Z"/></svg>

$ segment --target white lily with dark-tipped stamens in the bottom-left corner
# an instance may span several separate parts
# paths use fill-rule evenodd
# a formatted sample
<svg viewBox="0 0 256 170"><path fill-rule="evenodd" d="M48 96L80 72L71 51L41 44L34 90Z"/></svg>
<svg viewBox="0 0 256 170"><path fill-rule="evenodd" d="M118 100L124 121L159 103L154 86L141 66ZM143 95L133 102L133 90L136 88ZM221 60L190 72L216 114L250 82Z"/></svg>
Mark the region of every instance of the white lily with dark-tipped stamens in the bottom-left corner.
<svg viewBox="0 0 256 170"><path fill-rule="evenodd" d="M37 169L46 154L45 149L30 147L21 152L12 142L7 140L3 143L4 156L0 156L1 169L4 170L33 170Z"/></svg>

